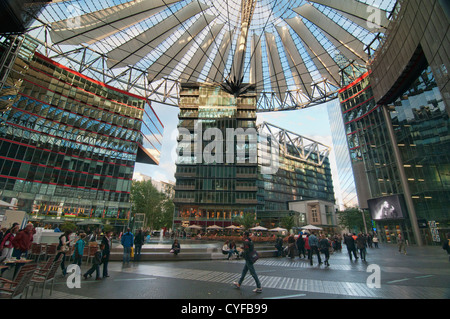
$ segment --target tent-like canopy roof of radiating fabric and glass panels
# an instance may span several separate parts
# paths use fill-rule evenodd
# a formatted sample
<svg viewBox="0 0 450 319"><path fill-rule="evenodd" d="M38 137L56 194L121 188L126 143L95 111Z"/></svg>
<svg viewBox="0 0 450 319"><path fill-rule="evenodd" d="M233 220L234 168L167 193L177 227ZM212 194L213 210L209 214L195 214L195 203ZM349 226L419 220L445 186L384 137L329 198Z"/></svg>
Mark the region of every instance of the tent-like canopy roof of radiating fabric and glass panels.
<svg viewBox="0 0 450 319"><path fill-rule="evenodd" d="M366 67L395 0L53 1L28 34L41 53L150 100L178 104L184 82L258 93L258 111L336 97Z"/></svg>

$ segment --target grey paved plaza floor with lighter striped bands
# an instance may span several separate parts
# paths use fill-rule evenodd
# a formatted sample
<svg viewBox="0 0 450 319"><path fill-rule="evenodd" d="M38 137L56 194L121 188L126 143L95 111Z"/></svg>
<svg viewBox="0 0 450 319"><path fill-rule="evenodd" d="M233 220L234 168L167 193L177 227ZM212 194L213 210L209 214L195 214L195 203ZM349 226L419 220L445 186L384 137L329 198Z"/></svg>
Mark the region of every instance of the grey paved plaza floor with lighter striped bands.
<svg viewBox="0 0 450 319"><path fill-rule="evenodd" d="M322 255L323 256L323 255ZM247 274L241 289L232 286L240 277L243 260L173 262L111 262L110 277L81 279L81 288L68 288L58 276L47 299L449 299L450 262L437 246L408 247L398 253L393 245L368 249L367 261L350 261L346 247L331 255L330 267L303 258L262 258L255 264L263 293ZM381 287L371 288L369 265L381 270ZM84 262L82 273L89 265ZM66 277L67 278L67 277ZM31 299L40 296L35 292Z"/></svg>

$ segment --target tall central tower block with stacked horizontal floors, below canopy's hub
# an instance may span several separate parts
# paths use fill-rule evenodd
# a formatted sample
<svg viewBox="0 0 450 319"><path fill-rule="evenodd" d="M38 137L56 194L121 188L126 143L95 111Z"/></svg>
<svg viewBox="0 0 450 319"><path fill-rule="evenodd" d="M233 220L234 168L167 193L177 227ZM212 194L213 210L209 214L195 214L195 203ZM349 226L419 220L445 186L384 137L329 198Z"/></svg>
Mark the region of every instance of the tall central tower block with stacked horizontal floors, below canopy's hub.
<svg viewBox="0 0 450 319"><path fill-rule="evenodd" d="M185 84L179 107L179 132L186 134L178 142L174 228L189 224L226 227L235 217L255 213L258 167L250 154L256 154L256 134L253 141L241 144L233 138L231 149L225 140L227 129L256 132L254 92L236 98L217 86ZM214 138L206 138L211 130ZM218 148L210 149L216 142Z"/></svg>

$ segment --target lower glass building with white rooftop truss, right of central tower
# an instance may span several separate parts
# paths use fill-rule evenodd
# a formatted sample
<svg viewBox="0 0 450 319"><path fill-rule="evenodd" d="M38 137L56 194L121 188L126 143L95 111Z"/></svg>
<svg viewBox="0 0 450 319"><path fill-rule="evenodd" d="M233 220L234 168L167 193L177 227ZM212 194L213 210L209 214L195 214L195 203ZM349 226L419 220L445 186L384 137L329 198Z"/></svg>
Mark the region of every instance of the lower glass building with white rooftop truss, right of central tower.
<svg viewBox="0 0 450 319"><path fill-rule="evenodd" d="M265 227L279 226L286 216L295 216L296 226L312 222L307 221L306 211L291 210L290 202L316 200L334 206L328 157L330 149L327 146L269 123L263 123L258 133L257 216ZM265 145L265 139L269 141L269 146ZM273 156L277 156L276 164ZM264 173L265 163L271 163L276 169Z"/></svg>

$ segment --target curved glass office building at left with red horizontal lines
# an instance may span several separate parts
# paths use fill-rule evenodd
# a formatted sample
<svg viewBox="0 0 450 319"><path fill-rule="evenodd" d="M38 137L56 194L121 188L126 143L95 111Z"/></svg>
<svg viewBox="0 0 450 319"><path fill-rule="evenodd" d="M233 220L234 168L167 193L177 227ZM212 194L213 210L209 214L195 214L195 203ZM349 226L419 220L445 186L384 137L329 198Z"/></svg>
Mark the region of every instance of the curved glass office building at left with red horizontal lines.
<svg viewBox="0 0 450 319"><path fill-rule="evenodd" d="M37 52L12 62L0 94L2 198L32 220L126 225L136 160L159 162L163 125L149 102Z"/></svg>

